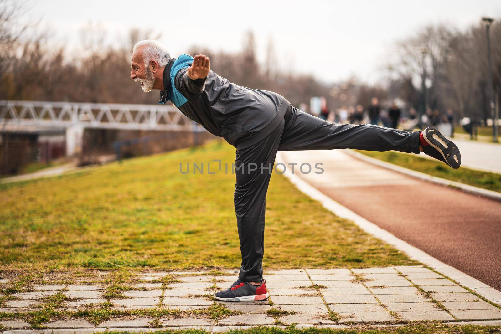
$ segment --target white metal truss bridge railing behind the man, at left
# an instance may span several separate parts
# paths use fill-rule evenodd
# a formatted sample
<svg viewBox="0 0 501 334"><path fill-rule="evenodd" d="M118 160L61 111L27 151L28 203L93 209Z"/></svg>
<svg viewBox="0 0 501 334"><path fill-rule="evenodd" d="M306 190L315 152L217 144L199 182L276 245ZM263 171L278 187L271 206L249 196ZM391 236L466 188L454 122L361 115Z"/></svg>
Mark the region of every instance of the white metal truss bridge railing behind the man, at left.
<svg viewBox="0 0 501 334"><path fill-rule="evenodd" d="M170 105L0 101L0 130L84 128L193 131L193 121Z"/></svg>

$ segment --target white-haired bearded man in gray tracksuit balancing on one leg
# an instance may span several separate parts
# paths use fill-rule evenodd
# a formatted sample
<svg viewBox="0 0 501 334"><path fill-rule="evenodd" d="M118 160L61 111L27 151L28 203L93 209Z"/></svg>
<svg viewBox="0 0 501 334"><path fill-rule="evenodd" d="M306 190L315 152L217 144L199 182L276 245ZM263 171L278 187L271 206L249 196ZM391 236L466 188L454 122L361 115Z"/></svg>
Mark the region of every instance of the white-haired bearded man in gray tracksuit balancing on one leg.
<svg viewBox="0 0 501 334"><path fill-rule="evenodd" d="M279 94L230 83L210 71L204 55L171 58L154 40L134 46L131 68L131 79L141 82L143 91L160 90L160 104L172 101L188 118L236 148L234 205L242 261L238 279L215 293L219 300L268 298L262 265L265 206L277 151L423 151L454 169L461 164L457 146L434 128L405 132L323 121L294 108Z"/></svg>

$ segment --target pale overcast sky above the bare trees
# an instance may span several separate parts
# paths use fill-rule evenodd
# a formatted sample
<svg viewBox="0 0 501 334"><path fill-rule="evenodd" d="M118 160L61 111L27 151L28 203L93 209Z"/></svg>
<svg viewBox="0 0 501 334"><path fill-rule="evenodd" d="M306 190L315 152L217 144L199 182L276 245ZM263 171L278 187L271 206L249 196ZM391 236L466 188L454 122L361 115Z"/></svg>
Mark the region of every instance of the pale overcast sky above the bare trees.
<svg viewBox="0 0 501 334"><path fill-rule="evenodd" d="M72 48L89 21L101 23L110 39L132 27L152 28L175 57L192 45L238 51L244 32L252 30L261 62L272 36L280 68L326 82L382 78L394 42L429 23L464 30L482 16L501 16L499 0L31 0L28 8L23 20L41 18L57 41Z"/></svg>

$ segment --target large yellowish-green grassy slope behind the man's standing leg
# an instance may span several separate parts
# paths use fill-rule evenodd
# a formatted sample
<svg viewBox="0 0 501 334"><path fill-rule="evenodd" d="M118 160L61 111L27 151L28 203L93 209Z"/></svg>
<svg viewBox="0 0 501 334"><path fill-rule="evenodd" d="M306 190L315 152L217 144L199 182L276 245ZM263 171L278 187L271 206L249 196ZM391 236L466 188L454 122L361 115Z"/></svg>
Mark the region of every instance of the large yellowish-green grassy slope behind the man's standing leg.
<svg viewBox="0 0 501 334"><path fill-rule="evenodd" d="M238 266L234 175L179 172L180 163L185 169L212 159L231 167L234 148L211 143L2 185L0 271ZM268 193L265 245L268 267L415 264L278 174Z"/></svg>

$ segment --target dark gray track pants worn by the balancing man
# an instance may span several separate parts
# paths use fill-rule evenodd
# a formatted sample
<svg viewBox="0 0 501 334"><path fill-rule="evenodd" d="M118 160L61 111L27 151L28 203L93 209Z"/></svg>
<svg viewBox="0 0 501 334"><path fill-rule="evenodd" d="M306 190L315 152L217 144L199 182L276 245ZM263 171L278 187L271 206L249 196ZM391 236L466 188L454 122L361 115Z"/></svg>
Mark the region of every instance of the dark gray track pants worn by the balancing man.
<svg viewBox="0 0 501 334"><path fill-rule="evenodd" d="M419 132L368 124L336 125L291 106L270 136L236 151L234 202L242 254L238 278L259 282L263 276L266 192L277 151L353 148L419 153L418 147Z"/></svg>

